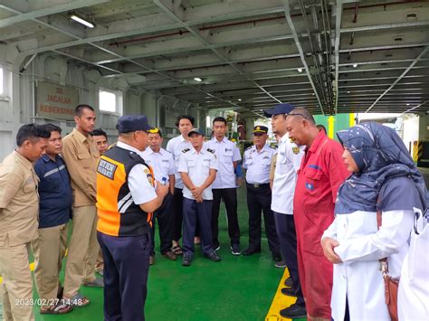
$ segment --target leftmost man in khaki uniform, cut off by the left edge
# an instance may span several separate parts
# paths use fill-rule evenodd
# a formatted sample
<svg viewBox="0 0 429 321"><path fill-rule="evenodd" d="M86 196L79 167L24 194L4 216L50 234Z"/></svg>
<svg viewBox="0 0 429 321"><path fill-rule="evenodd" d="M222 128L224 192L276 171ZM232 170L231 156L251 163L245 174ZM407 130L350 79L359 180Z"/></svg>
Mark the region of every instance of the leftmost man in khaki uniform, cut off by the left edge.
<svg viewBox="0 0 429 321"><path fill-rule="evenodd" d="M48 145L49 132L34 124L19 128L17 148L0 165L0 286L4 320L33 320L33 280L28 267L30 242L37 238L39 212L35 162Z"/></svg>

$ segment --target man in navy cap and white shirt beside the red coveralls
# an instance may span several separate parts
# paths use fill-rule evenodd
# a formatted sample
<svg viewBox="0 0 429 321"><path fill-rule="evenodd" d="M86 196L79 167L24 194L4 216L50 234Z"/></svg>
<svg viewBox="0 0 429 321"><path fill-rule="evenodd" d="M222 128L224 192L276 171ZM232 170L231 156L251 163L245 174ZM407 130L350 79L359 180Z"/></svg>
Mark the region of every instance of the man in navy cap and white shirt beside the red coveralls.
<svg viewBox="0 0 429 321"><path fill-rule="evenodd" d="M295 193L297 171L300 169L300 162L304 156L304 146L297 146L291 143L288 135L286 119L293 109L291 104L280 104L274 109L265 112L266 116L271 116L272 118L272 132L280 137L274 180L272 182L272 212L274 212L281 255L288 266L291 276L285 282L285 285L290 288L282 288L281 292L287 296L297 297L294 304L280 311L281 316L288 318L305 317L307 315L300 287L300 275L298 274L297 236L293 221L293 195Z"/></svg>

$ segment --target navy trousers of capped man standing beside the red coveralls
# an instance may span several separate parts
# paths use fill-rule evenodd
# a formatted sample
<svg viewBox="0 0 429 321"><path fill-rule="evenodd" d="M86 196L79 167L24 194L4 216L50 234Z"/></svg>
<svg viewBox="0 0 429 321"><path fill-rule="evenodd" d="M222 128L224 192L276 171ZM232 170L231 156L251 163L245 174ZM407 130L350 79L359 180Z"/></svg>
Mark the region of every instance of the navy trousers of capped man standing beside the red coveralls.
<svg viewBox="0 0 429 321"><path fill-rule="evenodd" d="M300 288L300 275L298 274L297 232L295 231L293 215L274 212L274 220L277 236L280 241L281 255L286 261L293 282L293 288L295 288L297 294L296 304L300 307L305 307L304 296Z"/></svg>

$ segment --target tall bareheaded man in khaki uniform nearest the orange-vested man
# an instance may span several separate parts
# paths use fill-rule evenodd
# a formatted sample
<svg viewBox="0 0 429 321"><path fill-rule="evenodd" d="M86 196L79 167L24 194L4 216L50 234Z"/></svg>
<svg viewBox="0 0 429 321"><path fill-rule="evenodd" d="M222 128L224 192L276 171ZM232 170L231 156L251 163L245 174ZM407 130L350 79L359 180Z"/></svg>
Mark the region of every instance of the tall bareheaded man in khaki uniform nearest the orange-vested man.
<svg viewBox="0 0 429 321"><path fill-rule="evenodd" d="M96 234L96 167L100 158L90 133L96 120L94 109L78 105L75 109L76 127L62 139L62 157L70 173L73 192L73 231L65 267L63 298L73 306L90 303L78 293L81 284L102 287L102 279L94 274L95 260L100 250ZM88 259L85 260L88 256Z"/></svg>

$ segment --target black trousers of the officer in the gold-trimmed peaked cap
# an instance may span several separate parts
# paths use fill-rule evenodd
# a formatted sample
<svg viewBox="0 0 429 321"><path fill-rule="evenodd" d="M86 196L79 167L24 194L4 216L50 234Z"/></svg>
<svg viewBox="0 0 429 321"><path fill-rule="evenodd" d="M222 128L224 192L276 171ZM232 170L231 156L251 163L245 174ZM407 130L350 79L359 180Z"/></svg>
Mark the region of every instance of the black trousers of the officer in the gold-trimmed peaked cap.
<svg viewBox="0 0 429 321"><path fill-rule="evenodd" d="M280 254L280 243L275 230L274 214L272 213L272 190L270 184L246 184L247 209L249 211L249 249L261 249L261 212L265 222L265 234L268 248L272 254Z"/></svg>

